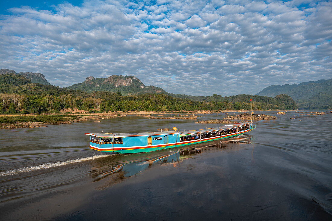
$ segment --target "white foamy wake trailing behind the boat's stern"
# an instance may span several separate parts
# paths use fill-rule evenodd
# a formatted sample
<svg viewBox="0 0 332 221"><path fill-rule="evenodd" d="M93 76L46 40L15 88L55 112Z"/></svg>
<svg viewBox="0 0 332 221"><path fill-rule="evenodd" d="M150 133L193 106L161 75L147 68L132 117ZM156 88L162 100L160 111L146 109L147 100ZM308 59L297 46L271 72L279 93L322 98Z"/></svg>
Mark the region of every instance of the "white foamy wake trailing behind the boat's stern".
<svg viewBox="0 0 332 221"><path fill-rule="evenodd" d="M62 161L62 162L57 162L57 163L45 163L45 164L41 164L38 166L24 167L24 168L20 168L20 169L8 170L8 171L3 171L3 172L0 171L0 176L8 176L8 175L13 175L13 174L17 174L17 173L31 172L34 170L63 166L63 165L67 165L70 163L78 163L78 162L83 162L83 161L88 161L88 160L94 160L94 159L99 159L99 158L103 158L103 157L107 157L107 156L110 156L110 155L97 155L97 156L92 156L92 157L79 158L76 160L67 160L67 161Z"/></svg>

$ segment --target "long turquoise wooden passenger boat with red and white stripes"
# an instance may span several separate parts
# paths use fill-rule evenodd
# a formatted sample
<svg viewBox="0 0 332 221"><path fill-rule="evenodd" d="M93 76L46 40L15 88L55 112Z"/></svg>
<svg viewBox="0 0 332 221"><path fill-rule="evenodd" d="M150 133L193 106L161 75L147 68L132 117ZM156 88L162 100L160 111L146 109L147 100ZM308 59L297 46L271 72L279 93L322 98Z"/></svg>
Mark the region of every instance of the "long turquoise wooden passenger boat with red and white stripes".
<svg viewBox="0 0 332 221"><path fill-rule="evenodd" d="M141 153L235 137L255 128L252 122L242 122L193 131L86 135L90 136L90 148L94 150L113 153Z"/></svg>

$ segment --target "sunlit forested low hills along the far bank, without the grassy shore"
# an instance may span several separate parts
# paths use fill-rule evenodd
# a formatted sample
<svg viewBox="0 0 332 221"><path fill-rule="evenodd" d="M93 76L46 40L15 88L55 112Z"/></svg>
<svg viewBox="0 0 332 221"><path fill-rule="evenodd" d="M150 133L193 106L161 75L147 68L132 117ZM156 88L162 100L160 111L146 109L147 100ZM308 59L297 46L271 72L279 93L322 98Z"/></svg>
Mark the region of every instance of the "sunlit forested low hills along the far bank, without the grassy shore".
<svg viewBox="0 0 332 221"><path fill-rule="evenodd" d="M218 96L219 101L193 101L165 94L138 94L122 96L120 92L86 92L70 88L32 83L21 75L0 75L0 113L54 113L65 108L78 108L90 112L108 111L195 111L195 110L250 110L296 109L288 95L275 98L240 94Z"/></svg>

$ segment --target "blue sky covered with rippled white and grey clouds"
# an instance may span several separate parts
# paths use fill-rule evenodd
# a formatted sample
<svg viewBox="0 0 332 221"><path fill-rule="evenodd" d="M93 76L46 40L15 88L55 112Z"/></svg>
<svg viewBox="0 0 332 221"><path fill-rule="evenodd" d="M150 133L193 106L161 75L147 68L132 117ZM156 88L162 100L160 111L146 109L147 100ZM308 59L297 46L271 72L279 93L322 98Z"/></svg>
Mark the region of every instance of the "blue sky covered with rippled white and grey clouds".
<svg viewBox="0 0 332 221"><path fill-rule="evenodd" d="M1 1L0 68L190 95L332 78L331 1Z"/></svg>

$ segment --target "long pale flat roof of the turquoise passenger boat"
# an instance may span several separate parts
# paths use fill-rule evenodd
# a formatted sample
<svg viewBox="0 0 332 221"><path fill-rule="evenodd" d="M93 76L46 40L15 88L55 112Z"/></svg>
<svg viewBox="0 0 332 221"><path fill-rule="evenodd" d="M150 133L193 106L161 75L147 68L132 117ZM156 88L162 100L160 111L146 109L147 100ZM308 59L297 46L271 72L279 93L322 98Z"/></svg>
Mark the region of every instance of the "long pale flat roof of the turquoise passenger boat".
<svg viewBox="0 0 332 221"><path fill-rule="evenodd" d="M97 138L113 138L113 137L139 137L139 136L162 136L162 135L172 135L172 134L178 134L179 135L189 135L189 134L199 134L199 133L206 133L206 132L213 132L213 131L220 131L220 130L228 130L232 128L237 128L244 126L246 124L250 124L252 122L241 122L241 123L235 123L230 125L225 125L221 127L215 127L215 128L207 128L207 129L201 129L201 130L192 130L192 131L163 131L163 132L143 132L143 133L115 133L115 134L86 134L90 136L94 136Z"/></svg>

